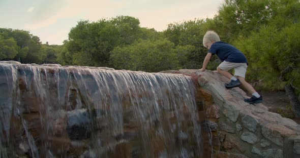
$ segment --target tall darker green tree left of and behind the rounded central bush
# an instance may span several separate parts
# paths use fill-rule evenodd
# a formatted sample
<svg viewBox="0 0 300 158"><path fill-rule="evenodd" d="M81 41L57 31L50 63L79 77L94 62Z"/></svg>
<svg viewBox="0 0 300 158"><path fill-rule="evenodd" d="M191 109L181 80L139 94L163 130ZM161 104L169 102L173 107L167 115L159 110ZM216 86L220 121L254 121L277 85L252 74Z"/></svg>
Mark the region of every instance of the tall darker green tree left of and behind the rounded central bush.
<svg viewBox="0 0 300 158"><path fill-rule="evenodd" d="M79 21L71 29L65 45L73 64L113 66L109 65L110 52L117 46L132 44L141 32L139 20L129 16L98 22Z"/></svg>

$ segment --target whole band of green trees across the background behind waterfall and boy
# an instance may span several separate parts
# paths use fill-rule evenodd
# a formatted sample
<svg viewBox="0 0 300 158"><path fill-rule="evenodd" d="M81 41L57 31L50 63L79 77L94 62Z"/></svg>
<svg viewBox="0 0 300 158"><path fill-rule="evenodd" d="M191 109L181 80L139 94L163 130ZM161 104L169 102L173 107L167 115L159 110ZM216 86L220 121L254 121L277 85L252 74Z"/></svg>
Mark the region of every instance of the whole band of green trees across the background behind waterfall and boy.
<svg viewBox="0 0 300 158"><path fill-rule="evenodd" d="M222 41L246 55L248 81L266 90L292 90L299 104L299 19L298 0L226 0L212 19L171 23L161 32L140 27L130 16L82 20L71 28L63 46L42 45L27 31L1 28L0 60L147 72L198 69L207 53L203 35L215 30ZM212 60L208 69L220 63L216 57Z"/></svg>

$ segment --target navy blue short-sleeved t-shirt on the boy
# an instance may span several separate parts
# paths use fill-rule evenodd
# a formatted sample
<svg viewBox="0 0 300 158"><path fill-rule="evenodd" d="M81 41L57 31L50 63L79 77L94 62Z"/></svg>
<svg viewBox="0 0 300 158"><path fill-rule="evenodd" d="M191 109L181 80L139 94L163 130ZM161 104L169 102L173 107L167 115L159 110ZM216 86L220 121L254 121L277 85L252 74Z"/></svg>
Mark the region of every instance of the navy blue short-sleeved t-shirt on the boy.
<svg viewBox="0 0 300 158"><path fill-rule="evenodd" d="M222 62L225 60L234 63L247 63L247 59L241 51L222 41L215 42L208 53L216 54Z"/></svg>

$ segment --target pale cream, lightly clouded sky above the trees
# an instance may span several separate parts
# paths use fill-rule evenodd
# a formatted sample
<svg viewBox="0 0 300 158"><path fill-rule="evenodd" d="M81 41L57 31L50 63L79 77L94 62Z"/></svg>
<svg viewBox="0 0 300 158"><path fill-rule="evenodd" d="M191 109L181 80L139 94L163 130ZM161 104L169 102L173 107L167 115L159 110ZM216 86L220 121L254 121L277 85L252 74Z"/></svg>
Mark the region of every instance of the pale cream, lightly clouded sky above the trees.
<svg viewBox="0 0 300 158"><path fill-rule="evenodd" d="M43 44L62 45L80 20L116 16L139 19L140 27L167 29L170 23L213 18L224 0L0 0L0 28L29 31Z"/></svg>

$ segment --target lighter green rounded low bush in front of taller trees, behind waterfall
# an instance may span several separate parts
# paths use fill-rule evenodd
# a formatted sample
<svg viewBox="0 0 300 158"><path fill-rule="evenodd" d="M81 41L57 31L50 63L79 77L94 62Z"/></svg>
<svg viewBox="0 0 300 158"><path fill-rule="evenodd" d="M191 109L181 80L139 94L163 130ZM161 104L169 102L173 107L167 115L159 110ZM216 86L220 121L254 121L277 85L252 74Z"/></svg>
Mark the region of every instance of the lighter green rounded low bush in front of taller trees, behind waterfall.
<svg viewBox="0 0 300 158"><path fill-rule="evenodd" d="M174 44L166 39L139 39L132 45L117 47L111 53L111 61L118 69L135 71L158 72L178 68Z"/></svg>

